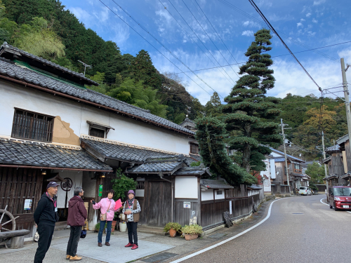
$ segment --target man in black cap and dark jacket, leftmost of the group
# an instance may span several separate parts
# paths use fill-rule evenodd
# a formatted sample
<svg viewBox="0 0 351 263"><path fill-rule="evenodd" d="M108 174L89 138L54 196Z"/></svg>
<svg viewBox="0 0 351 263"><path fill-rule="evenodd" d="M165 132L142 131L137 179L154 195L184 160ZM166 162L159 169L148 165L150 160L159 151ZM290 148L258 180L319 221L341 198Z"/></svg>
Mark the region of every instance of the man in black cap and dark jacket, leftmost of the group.
<svg viewBox="0 0 351 263"><path fill-rule="evenodd" d="M53 238L55 222L58 222L58 205L56 201L58 184L49 182L46 192L41 196L37 209L34 212L34 222L37 224L39 241L34 263L41 263Z"/></svg>

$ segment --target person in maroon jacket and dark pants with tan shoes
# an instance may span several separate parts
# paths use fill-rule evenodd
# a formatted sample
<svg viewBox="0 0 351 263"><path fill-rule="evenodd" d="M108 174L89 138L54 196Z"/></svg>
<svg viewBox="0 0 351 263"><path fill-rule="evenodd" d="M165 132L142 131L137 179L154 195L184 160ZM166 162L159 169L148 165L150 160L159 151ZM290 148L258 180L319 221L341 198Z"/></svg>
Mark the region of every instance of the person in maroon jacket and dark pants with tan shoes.
<svg viewBox="0 0 351 263"><path fill-rule="evenodd" d="M71 227L71 233L69 234L69 241L67 244L67 257L69 261L79 261L81 257L77 256L77 247L79 238L81 236L81 227L84 226L86 216L88 215L84 201L81 196L84 195L81 187L74 189L74 196L69 199L68 202L68 217L67 225Z"/></svg>

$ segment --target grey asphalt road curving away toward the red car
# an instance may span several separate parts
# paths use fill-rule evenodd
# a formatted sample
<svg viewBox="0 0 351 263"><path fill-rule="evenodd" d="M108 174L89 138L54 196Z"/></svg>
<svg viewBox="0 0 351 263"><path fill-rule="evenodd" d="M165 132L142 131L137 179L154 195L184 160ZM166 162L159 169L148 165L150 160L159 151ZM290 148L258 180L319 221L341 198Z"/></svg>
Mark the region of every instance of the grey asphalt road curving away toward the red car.
<svg viewBox="0 0 351 263"><path fill-rule="evenodd" d="M324 197L275 201L255 229L182 262L350 263L351 213L330 209L320 202Z"/></svg>

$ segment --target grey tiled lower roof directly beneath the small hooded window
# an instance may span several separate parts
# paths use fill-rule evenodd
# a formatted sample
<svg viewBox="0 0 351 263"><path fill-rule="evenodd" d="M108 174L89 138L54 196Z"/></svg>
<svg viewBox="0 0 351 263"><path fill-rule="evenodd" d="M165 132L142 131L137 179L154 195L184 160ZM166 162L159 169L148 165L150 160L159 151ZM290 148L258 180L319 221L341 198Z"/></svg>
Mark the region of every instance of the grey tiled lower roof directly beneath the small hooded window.
<svg viewBox="0 0 351 263"><path fill-rule="evenodd" d="M128 161L136 163L144 163L147 159L152 157L173 157L172 154L165 154L164 152L151 151L150 149L143 149L142 147L128 147L119 144L112 144L108 142L100 142L96 140L88 140L81 138L81 147L91 147L91 149L98 151L104 158L115 159L119 161Z"/></svg>

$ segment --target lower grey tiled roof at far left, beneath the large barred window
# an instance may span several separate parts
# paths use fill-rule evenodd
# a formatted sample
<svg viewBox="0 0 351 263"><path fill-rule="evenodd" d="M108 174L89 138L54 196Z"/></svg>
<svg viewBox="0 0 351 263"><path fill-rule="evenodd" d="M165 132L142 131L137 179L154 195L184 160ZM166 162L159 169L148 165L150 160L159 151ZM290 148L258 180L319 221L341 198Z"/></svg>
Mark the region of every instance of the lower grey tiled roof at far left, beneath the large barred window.
<svg viewBox="0 0 351 263"><path fill-rule="evenodd" d="M84 150L23 140L0 140L0 163L18 166L112 170Z"/></svg>

